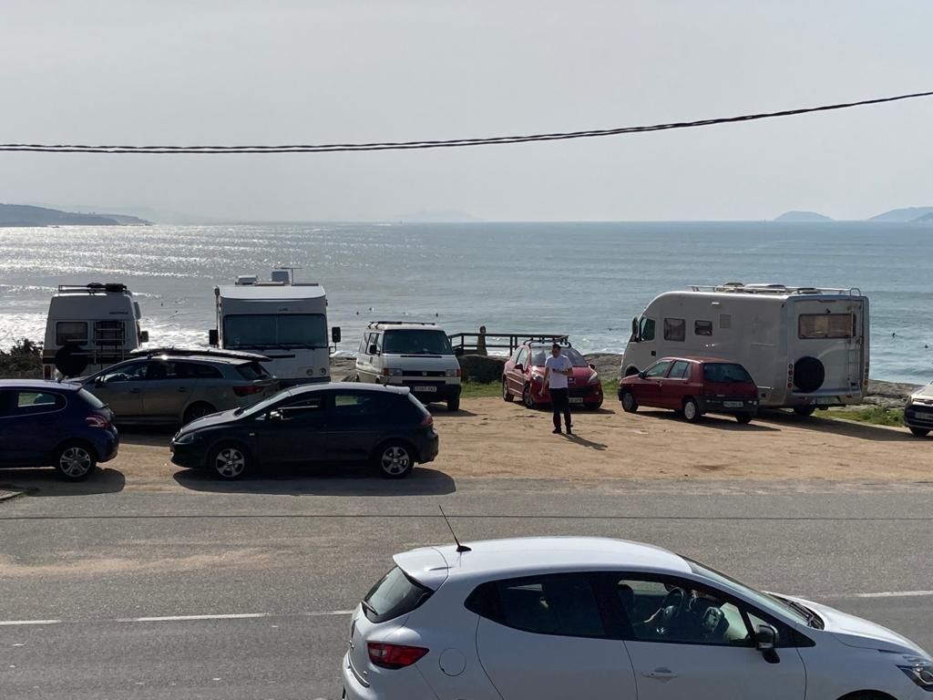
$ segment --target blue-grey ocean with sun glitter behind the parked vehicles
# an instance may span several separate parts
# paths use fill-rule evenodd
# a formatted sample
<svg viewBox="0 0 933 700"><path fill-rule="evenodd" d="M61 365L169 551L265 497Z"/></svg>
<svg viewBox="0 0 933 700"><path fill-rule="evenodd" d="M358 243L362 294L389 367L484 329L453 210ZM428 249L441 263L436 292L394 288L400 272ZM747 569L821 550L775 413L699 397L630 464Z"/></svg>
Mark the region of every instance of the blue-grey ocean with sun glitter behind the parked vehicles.
<svg viewBox="0 0 933 700"><path fill-rule="evenodd" d="M933 379L933 225L875 222L0 228L0 346L41 340L55 287L89 282L128 285L151 343L203 344L214 286L279 265L324 285L341 354L377 319L568 333L583 352L619 353L632 317L671 289L858 287L872 377Z"/></svg>

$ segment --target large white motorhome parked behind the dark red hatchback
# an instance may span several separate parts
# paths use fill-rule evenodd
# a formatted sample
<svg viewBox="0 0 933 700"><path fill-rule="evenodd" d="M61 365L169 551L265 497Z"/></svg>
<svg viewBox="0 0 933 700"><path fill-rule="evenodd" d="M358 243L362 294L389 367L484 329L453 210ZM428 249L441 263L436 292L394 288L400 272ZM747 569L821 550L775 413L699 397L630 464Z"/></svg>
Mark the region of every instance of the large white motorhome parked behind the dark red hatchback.
<svg viewBox="0 0 933 700"><path fill-rule="evenodd" d="M735 282L666 292L632 319L621 374L672 356L741 363L762 407L809 415L859 403L869 381L869 300L858 289Z"/></svg>

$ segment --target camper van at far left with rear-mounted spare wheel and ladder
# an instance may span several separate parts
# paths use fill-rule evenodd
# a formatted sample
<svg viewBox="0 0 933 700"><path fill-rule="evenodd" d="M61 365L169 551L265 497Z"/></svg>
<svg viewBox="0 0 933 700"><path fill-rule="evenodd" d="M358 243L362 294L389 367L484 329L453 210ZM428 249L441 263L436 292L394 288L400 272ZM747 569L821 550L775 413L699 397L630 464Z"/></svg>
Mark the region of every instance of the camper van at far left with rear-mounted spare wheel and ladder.
<svg viewBox="0 0 933 700"><path fill-rule="evenodd" d="M141 317L126 285L59 285L49 301L43 376L74 377L122 362L148 341Z"/></svg>

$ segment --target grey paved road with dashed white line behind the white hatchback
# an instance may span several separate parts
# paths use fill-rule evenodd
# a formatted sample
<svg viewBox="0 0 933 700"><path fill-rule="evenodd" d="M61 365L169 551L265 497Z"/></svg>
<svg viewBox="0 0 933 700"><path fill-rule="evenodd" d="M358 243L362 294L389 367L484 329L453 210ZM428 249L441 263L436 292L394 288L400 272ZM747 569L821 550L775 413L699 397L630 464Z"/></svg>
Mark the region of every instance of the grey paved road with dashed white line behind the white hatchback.
<svg viewBox="0 0 933 700"><path fill-rule="evenodd" d="M449 541L439 503L463 539L648 540L933 648L931 495L930 484L460 480L451 493L338 479L20 497L0 504L0 695L339 697L346 610L391 553Z"/></svg>

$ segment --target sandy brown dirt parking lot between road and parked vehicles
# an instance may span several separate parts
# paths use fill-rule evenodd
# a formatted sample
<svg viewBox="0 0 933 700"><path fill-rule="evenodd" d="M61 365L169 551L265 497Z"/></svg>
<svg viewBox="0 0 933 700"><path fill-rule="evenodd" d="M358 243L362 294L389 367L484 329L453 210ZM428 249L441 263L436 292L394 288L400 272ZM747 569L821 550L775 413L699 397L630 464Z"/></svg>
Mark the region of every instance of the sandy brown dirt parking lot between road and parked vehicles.
<svg viewBox="0 0 933 700"><path fill-rule="evenodd" d="M933 439L917 440L901 428L873 427L819 418L775 414L741 426L707 416L689 425L673 413L622 413L615 402L576 416L573 437L550 433L550 413L529 411L500 399L467 399L463 411L434 410L440 455L429 474L461 480L562 479L742 480L814 482L933 481ZM207 480L169 461L170 432L125 430L118 458L92 482L59 482L50 469L0 469L0 487L38 488L44 493L199 490ZM430 472L427 470L430 469ZM277 478L363 468L290 470ZM255 477L254 477L255 478ZM376 480L378 483L378 480ZM207 485L206 483L204 484ZM203 490L210 490L209 488Z"/></svg>

